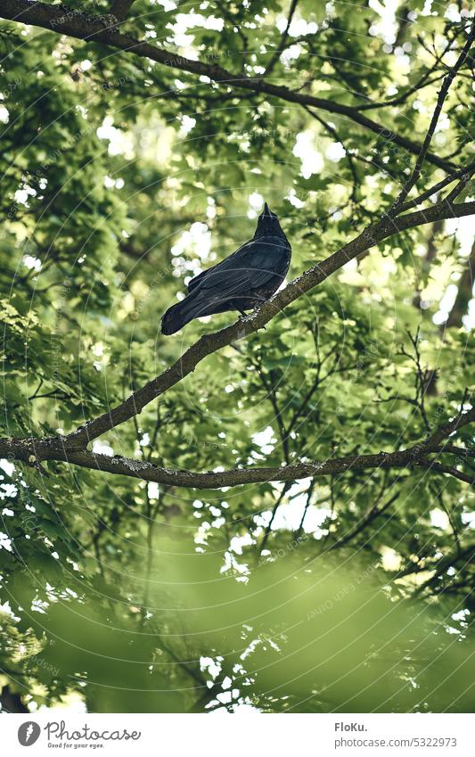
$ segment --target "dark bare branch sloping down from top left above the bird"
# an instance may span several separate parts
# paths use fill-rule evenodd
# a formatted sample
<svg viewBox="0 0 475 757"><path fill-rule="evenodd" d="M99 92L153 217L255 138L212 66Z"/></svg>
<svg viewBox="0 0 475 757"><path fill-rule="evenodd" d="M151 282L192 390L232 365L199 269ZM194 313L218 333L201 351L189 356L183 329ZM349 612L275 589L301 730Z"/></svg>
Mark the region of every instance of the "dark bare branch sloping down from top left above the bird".
<svg viewBox="0 0 475 757"><path fill-rule="evenodd" d="M324 100L303 92L294 92L286 86L270 84L262 77L250 78L242 73L236 75L217 65L192 61L162 47L120 34L113 26L107 26L106 16L91 16L85 12L72 11L63 5L48 5L31 2L31 0L3 0L0 7L0 17L10 21L31 24L85 41L101 42L103 45L110 45L124 52L149 58L170 68L188 71L198 76L207 76L220 84L249 89L258 94L271 95L288 103L299 103L329 113L339 113L363 128L373 131L387 142L397 144L414 155L420 155L422 150L421 144L405 136L397 135L383 124L368 119L356 108L341 103L333 103L331 100ZM425 159L438 168L449 171L454 169L454 165L450 161L439 158L433 152L427 151Z"/></svg>

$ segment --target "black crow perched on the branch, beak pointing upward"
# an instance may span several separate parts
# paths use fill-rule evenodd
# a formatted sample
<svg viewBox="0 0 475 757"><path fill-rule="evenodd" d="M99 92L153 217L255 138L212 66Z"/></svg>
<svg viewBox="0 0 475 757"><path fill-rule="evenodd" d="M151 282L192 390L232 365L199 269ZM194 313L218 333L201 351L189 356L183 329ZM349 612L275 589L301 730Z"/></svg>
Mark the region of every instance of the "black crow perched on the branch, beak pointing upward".
<svg viewBox="0 0 475 757"><path fill-rule="evenodd" d="M267 203L258 218L256 234L216 266L188 284L188 295L167 310L161 332L176 333L193 318L252 310L277 291L291 262L291 245Z"/></svg>

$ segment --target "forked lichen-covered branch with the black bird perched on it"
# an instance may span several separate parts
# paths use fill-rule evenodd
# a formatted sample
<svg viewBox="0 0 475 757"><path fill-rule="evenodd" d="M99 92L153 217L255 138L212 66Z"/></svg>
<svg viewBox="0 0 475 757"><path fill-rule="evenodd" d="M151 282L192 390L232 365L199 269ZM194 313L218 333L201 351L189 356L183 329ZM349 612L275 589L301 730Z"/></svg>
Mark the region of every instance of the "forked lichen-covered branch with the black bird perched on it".
<svg viewBox="0 0 475 757"><path fill-rule="evenodd" d="M11 460L20 460L44 473L41 462L57 460L73 465L100 470L105 473L116 473L140 478L145 481L157 481L170 486L184 486L197 489L221 488L237 486L244 483L259 481L295 481L299 478L315 478L317 476L334 475L336 473L357 472L372 468L389 468L397 466L413 467L419 461L427 460L432 453L457 454L463 456L463 449L454 448L446 440L458 429L475 421L475 407L463 413L463 407L468 401L464 397L460 412L447 424L438 429L421 444L396 452L381 452L376 455L358 455L343 458L330 458L322 463L301 462L296 465L283 465L276 468L252 467L225 472L193 473L190 471L169 470L150 462L127 459L125 457L107 457L97 455L86 450L86 444L102 433L111 430L116 425L124 423L145 405L164 391L180 382L185 375L190 374L201 359L219 350L231 342L242 339L258 328L265 325L279 313L283 307L297 300L301 294L312 289L316 284L330 276L334 271L344 266L348 260L356 258L360 252L372 247L381 240L398 232L414 228L426 223L433 223L440 218L461 217L475 213L475 202L450 205L440 202L428 210L419 210L401 218L381 218L381 220L364 229L364 232L345 244L322 263L314 267L297 279L294 279L282 292L266 302L266 304L249 317L239 320L216 333L202 336L201 339L184 352L173 366L160 374L151 382L135 391L128 399L110 412L95 418L82 428L71 432L66 437L49 439L0 440L0 455ZM456 450L456 453L455 453ZM454 469L456 471L456 469ZM448 471L447 471L448 472ZM457 478L460 475L457 473ZM455 475L455 473L454 473Z"/></svg>

